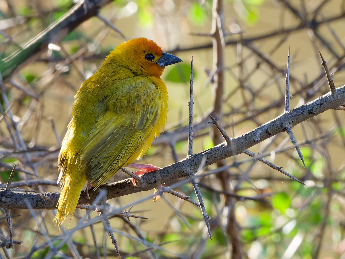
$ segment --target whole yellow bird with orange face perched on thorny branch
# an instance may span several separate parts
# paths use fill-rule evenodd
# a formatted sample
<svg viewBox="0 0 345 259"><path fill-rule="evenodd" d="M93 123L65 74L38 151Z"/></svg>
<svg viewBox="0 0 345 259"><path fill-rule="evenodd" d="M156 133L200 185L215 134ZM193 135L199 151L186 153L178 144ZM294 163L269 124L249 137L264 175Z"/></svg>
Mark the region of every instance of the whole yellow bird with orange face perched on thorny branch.
<svg viewBox="0 0 345 259"><path fill-rule="evenodd" d="M141 174L157 168L131 163L164 130L168 92L160 76L165 66L181 61L152 40L131 39L82 84L58 158L62 191L54 220L59 225L75 212L85 182L87 190L97 189L129 164Z"/></svg>

